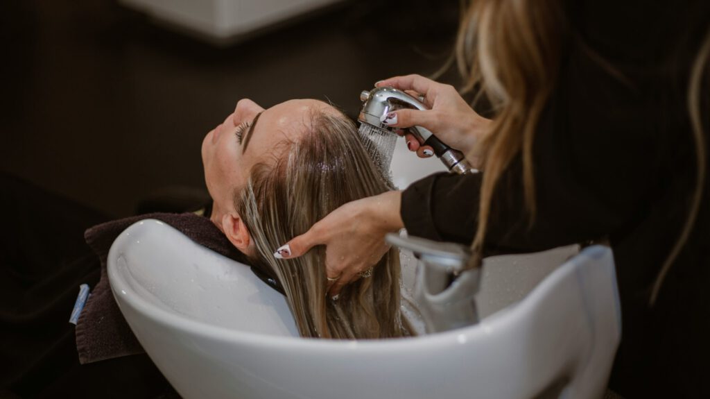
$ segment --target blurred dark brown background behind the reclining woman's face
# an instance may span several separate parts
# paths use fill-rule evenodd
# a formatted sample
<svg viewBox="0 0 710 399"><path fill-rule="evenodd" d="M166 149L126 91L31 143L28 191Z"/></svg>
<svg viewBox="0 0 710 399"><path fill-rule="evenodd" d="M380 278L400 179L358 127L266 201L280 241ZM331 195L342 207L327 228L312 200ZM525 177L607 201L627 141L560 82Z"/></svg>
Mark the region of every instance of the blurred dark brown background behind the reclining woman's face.
<svg viewBox="0 0 710 399"><path fill-rule="evenodd" d="M355 116L377 80L444 64L458 4L347 1L217 48L111 0L4 1L0 171L115 217L165 187L204 190L200 143L239 99Z"/></svg>

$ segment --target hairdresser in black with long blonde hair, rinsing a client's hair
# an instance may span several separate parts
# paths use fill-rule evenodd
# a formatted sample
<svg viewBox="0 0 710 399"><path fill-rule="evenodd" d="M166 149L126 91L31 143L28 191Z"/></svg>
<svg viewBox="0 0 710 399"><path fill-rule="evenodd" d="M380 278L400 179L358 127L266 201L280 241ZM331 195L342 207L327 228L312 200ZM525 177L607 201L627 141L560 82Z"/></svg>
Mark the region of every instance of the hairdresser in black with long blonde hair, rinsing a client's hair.
<svg viewBox="0 0 710 399"><path fill-rule="evenodd" d="M402 227L479 256L608 239L623 314L610 388L710 398L709 27L706 0L474 2L457 58L491 120L420 76L377 85L432 107L388 124L430 129L482 172L345 204L280 253L327 246L334 294Z"/></svg>

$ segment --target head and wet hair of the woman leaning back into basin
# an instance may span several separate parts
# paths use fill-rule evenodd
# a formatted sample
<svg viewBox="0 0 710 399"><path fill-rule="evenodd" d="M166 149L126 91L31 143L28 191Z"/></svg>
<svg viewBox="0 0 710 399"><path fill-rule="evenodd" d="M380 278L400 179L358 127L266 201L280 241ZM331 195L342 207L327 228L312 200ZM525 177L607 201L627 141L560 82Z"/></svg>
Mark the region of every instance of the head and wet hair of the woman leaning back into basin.
<svg viewBox="0 0 710 399"><path fill-rule="evenodd" d="M273 248L346 202L390 187L344 114L317 100L261 109L241 100L202 144L211 219L256 268L283 286L302 337L376 339L410 334L400 315L400 263L391 249L373 268L327 295L325 248L275 258ZM271 272L271 273L270 273ZM366 276L366 274L363 274Z"/></svg>

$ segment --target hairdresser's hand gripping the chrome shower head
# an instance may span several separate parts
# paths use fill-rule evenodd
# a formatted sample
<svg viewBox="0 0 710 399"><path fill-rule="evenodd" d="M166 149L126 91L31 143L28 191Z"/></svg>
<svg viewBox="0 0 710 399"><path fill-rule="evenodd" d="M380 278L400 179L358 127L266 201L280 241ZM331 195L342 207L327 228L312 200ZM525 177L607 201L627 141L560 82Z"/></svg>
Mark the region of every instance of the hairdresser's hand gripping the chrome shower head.
<svg viewBox="0 0 710 399"><path fill-rule="evenodd" d="M404 90L415 97L422 96L423 103L430 110L399 109L387 115L383 121L389 126L408 128L423 126L434 133L448 146L466 154L472 165L477 166L479 143L491 124L466 104L459 92L449 84L437 83L420 75L391 77L377 82L376 87L391 86ZM416 151L421 158L433 154L429 146L420 146L414 136L405 136L410 151Z"/></svg>

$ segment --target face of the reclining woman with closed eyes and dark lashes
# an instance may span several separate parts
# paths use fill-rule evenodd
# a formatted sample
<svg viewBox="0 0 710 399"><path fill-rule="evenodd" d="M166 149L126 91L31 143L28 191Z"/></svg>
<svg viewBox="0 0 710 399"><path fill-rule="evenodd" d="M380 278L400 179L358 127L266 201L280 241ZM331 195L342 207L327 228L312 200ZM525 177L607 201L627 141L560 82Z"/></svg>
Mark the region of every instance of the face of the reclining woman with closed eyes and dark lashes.
<svg viewBox="0 0 710 399"><path fill-rule="evenodd" d="M256 163L278 159L288 143L307 131L312 110L339 113L314 99L295 99L263 109L249 99L236 104L224 122L202 141L204 180L214 200L213 220L230 212L235 190L244 187Z"/></svg>

